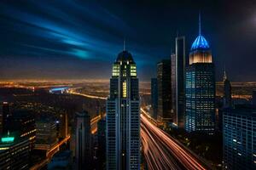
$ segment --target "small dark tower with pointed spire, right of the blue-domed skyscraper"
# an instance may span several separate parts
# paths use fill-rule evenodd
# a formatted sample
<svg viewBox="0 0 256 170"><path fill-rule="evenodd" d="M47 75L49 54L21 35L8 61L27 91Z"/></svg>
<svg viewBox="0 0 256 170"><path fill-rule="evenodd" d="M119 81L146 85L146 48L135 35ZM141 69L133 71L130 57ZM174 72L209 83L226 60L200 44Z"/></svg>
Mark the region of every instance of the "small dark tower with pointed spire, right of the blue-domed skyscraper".
<svg viewBox="0 0 256 170"><path fill-rule="evenodd" d="M232 106L232 97L231 97L231 84L227 77L226 71L224 70L224 108Z"/></svg>

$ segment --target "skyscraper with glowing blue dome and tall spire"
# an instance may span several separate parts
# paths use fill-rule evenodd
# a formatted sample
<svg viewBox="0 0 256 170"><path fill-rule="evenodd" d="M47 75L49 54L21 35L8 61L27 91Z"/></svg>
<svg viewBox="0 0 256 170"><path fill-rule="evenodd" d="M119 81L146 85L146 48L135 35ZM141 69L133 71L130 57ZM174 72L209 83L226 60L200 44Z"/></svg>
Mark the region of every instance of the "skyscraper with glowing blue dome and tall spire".
<svg viewBox="0 0 256 170"><path fill-rule="evenodd" d="M186 70L186 122L188 132L213 133L215 129L215 76L210 46L201 35L192 44Z"/></svg>

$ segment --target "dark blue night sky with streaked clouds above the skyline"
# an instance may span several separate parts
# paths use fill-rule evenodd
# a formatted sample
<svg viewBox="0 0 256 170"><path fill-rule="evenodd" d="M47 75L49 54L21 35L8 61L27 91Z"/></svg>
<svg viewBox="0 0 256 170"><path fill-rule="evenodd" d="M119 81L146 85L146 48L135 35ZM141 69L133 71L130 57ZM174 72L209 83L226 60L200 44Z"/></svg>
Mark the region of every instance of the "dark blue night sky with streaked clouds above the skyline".
<svg viewBox="0 0 256 170"><path fill-rule="evenodd" d="M177 32L190 48L199 11L217 80L226 65L231 81L256 81L256 1L249 0L1 0L0 78L109 78L125 37L148 81L174 52Z"/></svg>

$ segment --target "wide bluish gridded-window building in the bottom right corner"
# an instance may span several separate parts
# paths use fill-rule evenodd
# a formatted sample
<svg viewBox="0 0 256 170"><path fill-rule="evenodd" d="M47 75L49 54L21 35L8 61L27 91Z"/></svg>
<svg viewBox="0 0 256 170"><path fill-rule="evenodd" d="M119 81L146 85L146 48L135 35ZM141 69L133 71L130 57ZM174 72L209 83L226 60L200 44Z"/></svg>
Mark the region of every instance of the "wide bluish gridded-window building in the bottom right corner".
<svg viewBox="0 0 256 170"><path fill-rule="evenodd" d="M256 109L223 111L224 169L256 169Z"/></svg>

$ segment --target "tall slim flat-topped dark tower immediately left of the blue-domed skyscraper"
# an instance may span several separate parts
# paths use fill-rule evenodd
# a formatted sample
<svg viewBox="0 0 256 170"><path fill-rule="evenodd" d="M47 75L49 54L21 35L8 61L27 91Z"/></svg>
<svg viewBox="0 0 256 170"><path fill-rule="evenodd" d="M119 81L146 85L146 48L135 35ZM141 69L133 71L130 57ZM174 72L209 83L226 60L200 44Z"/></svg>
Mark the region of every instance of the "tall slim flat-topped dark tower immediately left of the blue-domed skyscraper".
<svg viewBox="0 0 256 170"><path fill-rule="evenodd" d="M177 127L184 127L185 103L185 37L176 37L176 53L172 54L172 112Z"/></svg>

